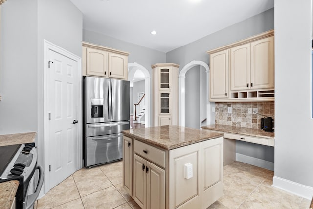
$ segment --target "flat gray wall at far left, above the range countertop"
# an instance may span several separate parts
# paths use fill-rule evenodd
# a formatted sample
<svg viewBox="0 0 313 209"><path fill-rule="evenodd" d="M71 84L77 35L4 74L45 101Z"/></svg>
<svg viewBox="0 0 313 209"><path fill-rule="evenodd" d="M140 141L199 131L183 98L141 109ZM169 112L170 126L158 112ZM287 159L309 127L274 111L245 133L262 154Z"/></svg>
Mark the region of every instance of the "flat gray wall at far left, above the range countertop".
<svg viewBox="0 0 313 209"><path fill-rule="evenodd" d="M37 131L37 1L1 5L0 134Z"/></svg>

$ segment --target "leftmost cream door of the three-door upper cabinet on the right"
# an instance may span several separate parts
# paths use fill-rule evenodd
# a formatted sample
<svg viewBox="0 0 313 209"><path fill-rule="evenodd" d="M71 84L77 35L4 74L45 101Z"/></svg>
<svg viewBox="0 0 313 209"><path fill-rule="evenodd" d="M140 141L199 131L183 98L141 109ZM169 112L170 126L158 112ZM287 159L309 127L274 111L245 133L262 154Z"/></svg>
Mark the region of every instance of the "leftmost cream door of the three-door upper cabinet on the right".
<svg viewBox="0 0 313 209"><path fill-rule="evenodd" d="M228 98L228 49L210 55L210 99Z"/></svg>

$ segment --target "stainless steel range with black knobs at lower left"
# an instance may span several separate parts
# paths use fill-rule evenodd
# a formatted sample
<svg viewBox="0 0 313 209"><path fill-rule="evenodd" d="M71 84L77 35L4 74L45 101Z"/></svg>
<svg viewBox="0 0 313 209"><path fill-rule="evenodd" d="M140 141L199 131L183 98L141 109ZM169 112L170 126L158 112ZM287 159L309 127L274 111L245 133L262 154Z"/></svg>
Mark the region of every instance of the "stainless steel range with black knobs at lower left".
<svg viewBox="0 0 313 209"><path fill-rule="evenodd" d="M36 191L29 190L35 170L39 170ZM34 143L0 147L0 182L18 180L16 209L29 209L36 201L44 182L44 173L37 165L37 150Z"/></svg>

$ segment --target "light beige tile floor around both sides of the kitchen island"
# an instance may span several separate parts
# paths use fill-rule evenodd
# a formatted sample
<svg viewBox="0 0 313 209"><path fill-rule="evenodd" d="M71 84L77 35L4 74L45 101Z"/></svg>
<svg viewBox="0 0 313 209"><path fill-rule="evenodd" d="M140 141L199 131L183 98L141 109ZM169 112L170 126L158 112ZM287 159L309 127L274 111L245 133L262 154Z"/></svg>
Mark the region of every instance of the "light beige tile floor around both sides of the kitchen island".
<svg viewBox="0 0 313 209"><path fill-rule="evenodd" d="M209 209L309 209L310 200L272 187L272 171L224 166L224 196ZM51 189L37 209L140 209L122 187L122 161L81 169Z"/></svg>

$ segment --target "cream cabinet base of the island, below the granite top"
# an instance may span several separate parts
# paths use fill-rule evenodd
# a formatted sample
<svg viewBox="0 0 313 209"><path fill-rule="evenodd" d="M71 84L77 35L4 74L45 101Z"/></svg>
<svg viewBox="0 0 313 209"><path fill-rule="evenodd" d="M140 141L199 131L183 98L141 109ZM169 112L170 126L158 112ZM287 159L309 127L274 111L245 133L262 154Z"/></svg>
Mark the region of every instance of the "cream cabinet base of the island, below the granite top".
<svg viewBox="0 0 313 209"><path fill-rule="evenodd" d="M123 187L142 209L206 209L223 196L222 137L172 150L136 139L133 144L132 166L123 156L123 165L130 165L123 167ZM185 175L188 164L192 177ZM133 171L133 189L125 185L124 178L131 176L126 170Z"/></svg>

